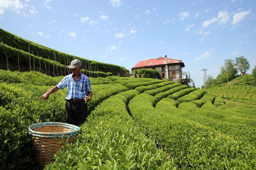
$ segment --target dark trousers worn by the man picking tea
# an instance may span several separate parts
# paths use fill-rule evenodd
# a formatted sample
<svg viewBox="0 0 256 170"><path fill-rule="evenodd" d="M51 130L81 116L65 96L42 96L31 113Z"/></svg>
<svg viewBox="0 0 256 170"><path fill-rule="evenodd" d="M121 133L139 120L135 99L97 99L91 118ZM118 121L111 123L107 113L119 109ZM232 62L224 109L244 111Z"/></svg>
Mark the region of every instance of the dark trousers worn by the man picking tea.
<svg viewBox="0 0 256 170"><path fill-rule="evenodd" d="M87 103L66 101L67 123L79 126L88 116Z"/></svg>

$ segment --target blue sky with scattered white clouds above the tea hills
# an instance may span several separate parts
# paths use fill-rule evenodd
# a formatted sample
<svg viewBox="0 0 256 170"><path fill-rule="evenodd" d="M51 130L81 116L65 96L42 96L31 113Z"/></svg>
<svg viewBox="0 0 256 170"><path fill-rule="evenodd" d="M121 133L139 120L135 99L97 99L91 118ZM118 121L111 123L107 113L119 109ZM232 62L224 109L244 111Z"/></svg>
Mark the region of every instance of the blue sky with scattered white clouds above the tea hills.
<svg viewBox="0 0 256 170"><path fill-rule="evenodd" d="M0 27L90 60L124 66L167 55L196 86L224 59L256 65L255 0L0 0Z"/></svg>

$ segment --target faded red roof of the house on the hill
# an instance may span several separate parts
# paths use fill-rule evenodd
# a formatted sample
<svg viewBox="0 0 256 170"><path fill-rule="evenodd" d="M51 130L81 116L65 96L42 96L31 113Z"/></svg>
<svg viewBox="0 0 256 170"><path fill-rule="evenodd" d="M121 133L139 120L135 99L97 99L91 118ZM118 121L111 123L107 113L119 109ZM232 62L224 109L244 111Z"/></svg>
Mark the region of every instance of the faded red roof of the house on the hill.
<svg viewBox="0 0 256 170"><path fill-rule="evenodd" d="M148 60L144 60L144 61L139 61L133 68L166 64L164 62L165 62L164 57L159 57L157 59L148 59ZM167 58L167 63L168 64L179 63L179 64L181 64L182 67L185 66L184 63L182 62L182 60L177 60L177 59Z"/></svg>

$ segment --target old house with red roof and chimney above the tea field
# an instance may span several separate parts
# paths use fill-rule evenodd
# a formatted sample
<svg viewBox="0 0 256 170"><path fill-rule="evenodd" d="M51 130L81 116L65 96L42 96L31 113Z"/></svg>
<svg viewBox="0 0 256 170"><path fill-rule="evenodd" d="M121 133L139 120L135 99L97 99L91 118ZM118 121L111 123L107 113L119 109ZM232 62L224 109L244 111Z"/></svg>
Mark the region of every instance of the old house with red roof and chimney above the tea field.
<svg viewBox="0 0 256 170"><path fill-rule="evenodd" d="M159 57L157 59L148 59L144 61L139 61L133 68L134 70L147 68L158 70L163 79L170 79L177 82L178 79L182 79L182 67L184 63L181 60L169 59L167 56ZM138 75L140 77L140 75Z"/></svg>

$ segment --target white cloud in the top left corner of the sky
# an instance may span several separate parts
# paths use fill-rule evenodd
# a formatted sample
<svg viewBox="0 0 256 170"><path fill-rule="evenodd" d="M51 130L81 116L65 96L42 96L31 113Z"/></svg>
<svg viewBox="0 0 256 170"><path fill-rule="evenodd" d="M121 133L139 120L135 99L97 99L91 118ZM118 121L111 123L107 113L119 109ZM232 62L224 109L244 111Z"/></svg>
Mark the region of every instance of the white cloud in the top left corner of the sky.
<svg viewBox="0 0 256 170"><path fill-rule="evenodd" d="M20 0L0 0L0 15L4 14L5 10L11 9L13 11L17 11L22 9L23 6L24 5Z"/></svg>

